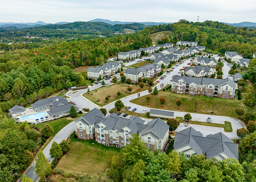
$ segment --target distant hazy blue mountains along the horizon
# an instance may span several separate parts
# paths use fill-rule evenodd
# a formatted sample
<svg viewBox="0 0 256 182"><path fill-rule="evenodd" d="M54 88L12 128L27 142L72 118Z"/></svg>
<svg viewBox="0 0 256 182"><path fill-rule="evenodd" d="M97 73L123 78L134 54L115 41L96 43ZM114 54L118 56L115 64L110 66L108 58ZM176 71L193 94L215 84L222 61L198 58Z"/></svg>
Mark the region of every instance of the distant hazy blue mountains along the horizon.
<svg viewBox="0 0 256 182"><path fill-rule="evenodd" d="M111 20L104 20L104 19L94 19L94 20L90 20L90 22L104 22L107 24L111 24L111 25L116 25L116 24L133 24L133 23L140 23L140 24L144 24L147 26L152 26L152 25L162 25L162 24L172 24L172 23L166 23L166 22L120 22L120 21L111 21ZM55 25L64 25L64 24L68 24L71 22L58 22ZM230 24L230 23L225 23L225 22L221 22L223 24L227 24L227 25L231 25L234 27L256 27L256 23L253 22L241 22L241 23L236 23L236 24ZM42 25L54 25L54 24L48 24L42 21L38 21L35 23L32 22L28 22L28 23L14 23L14 22L0 22L0 27L17 27L17 28L28 28L28 27L36 27L36 26L42 26Z"/></svg>

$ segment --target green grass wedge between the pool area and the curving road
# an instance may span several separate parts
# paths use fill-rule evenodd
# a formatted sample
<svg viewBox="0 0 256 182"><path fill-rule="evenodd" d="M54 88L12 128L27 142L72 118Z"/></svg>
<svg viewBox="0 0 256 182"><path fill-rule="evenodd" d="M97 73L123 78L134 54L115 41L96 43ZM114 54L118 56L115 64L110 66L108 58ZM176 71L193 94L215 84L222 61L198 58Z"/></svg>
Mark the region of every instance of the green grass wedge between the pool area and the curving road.
<svg viewBox="0 0 256 182"><path fill-rule="evenodd" d="M82 116L83 114L78 114L78 117ZM77 117L77 118L78 118ZM53 135L48 138L44 144L43 147L41 147L40 150L43 150L45 149L45 147L48 145L48 143L50 143L50 141L52 140L52 138L63 128L65 127L67 124L69 124L70 122L72 122L73 120L75 120L76 118L71 118L70 116L69 117L66 117L66 118L60 118L60 119L56 119L56 120L52 120L52 121L49 121L49 122L45 122L45 123L41 123L41 124L30 124L30 126L35 126L37 127L38 129L42 130L43 127L45 126L45 124L49 124L50 126L53 127L54 129L54 133Z"/></svg>

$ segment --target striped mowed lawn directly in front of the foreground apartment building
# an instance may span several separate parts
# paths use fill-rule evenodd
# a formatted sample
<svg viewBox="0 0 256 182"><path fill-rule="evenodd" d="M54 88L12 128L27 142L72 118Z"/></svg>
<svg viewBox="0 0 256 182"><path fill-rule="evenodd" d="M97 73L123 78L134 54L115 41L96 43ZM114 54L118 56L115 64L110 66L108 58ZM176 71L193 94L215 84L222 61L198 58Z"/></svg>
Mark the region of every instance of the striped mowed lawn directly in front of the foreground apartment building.
<svg viewBox="0 0 256 182"><path fill-rule="evenodd" d="M57 167L82 174L100 174L111 164L111 158L120 152L114 146L104 146L94 140L73 139L70 150L59 160Z"/></svg>

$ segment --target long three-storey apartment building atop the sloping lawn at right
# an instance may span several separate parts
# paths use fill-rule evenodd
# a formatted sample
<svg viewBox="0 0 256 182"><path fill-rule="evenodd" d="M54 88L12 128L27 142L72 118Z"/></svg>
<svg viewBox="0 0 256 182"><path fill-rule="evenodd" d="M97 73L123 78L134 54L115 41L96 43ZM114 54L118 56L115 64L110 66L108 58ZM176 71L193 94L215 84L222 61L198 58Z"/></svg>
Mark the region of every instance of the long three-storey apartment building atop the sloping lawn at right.
<svg viewBox="0 0 256 182"><path fill-rule="evenodd" d="M171 82L171 91L175 93L235 98L236 83L230 78L215 79L175 75Z"/></svg>

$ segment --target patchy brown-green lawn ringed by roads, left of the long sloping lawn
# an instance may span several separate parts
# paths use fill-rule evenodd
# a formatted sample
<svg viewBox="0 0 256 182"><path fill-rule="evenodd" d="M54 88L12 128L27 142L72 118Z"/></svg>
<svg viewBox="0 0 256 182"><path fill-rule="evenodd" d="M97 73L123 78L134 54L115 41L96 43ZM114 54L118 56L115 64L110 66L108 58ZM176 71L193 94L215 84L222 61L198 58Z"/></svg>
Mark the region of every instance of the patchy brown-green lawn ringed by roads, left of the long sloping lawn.
<svg viewBox="0 0 256 182"><path fill-rule="evenodd" d="M131 94L129 94L129 91L127 90L128 86L132 87ZM128 84L122 84L121 81L111 84L110 86L107 87L100 87L98 89L95 89L93 91L90 91L89 93L84 93L83 96L95 104L98 104L98 106L103 106L104 105L111 103L115 100L118 100L120 98L126 97L128 95L132 95L134 93L138 93L141 91L145 91L148 89L148 84L144 83L144 87L141 90L141 87L139 87L139 84L137 85L128 85ZM117 92L121 92L120 98L117 95ZM106 103L106 96L109 96L108 103ZM97 102L99 100L99 102Z"/></svg>

